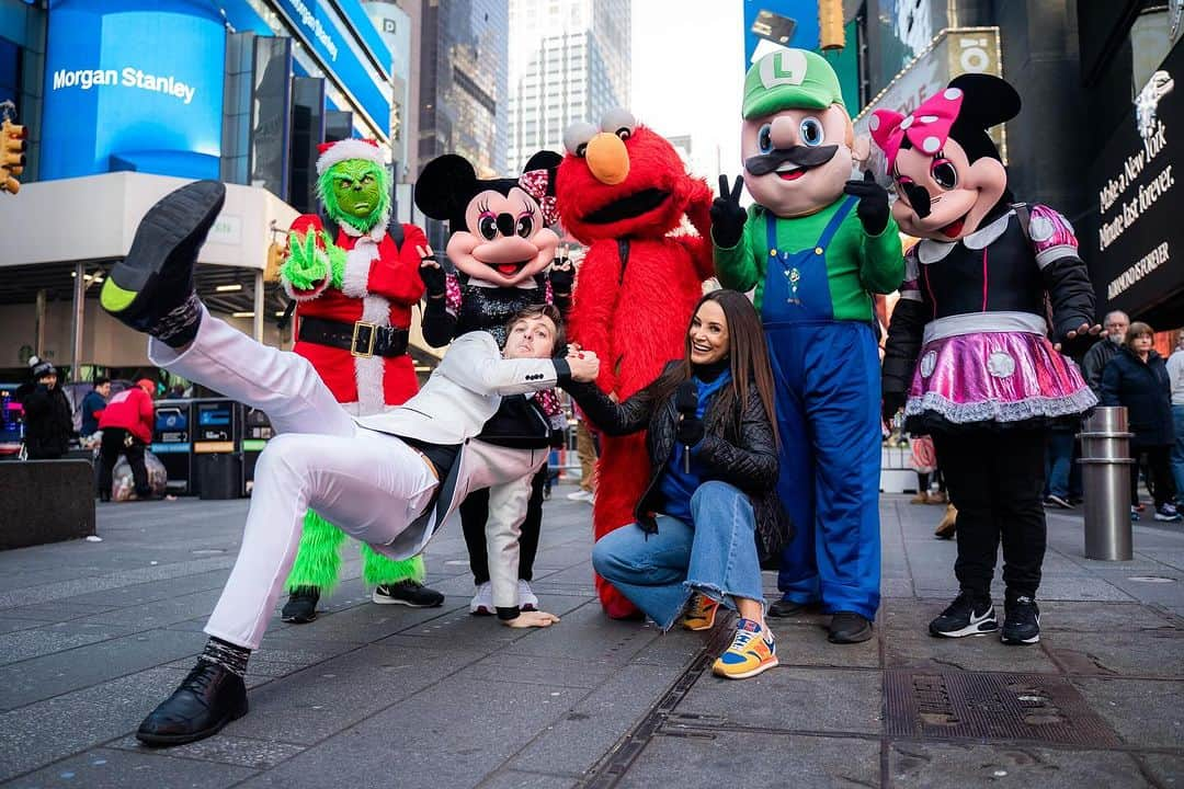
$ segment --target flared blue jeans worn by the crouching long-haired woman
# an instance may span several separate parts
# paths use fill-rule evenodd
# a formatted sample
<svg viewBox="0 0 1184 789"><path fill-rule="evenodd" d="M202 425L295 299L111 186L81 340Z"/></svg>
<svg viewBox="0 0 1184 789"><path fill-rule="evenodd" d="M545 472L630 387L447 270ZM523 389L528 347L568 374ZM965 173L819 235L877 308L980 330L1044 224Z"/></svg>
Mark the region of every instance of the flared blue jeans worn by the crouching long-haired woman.
<svg viewBox="0 0 1184 789"><path fill-rule="evenodd" d="M658 516L655 535L629 524L592 549L596 571L663 630L694 591L732 609L733 597L764 601L748 497L727 483L703 483L690 498L690 515L694 525Z"/></svg>

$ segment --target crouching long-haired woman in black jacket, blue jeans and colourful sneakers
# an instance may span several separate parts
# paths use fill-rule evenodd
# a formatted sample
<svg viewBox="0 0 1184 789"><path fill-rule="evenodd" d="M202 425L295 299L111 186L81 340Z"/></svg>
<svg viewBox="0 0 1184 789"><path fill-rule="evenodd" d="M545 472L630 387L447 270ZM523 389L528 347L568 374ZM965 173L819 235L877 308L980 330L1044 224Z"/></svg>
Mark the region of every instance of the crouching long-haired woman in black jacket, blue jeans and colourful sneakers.
<svg viewBox="0 0 1184 789"><path fill-rule="evenodd" d="M565 388L604 433L649 431L652 472L637 522L597 542L596 571L663 630L680 614L700 630L721 604L736 610L732 646L713 667L720 677L776 666L760 564L780 555L791 525L774 491L773 375L752 303L729 290L704 296L682 361L623 403L594 384Z"/></svg>

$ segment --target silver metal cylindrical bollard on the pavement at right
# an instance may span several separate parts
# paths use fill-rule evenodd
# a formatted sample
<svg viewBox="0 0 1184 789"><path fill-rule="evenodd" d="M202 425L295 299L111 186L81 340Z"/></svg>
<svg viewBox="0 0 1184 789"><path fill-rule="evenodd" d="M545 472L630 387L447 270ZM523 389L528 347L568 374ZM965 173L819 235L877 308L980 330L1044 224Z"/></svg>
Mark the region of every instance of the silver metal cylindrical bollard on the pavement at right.
<svg viewBox="0 0 1184 789"><path fill-rule="evenodd" d="M1131 436L1126 408L1101 406L1082 423L1081 486L1086 494L1086 558L1126 562L1131 547Z"/></svg>

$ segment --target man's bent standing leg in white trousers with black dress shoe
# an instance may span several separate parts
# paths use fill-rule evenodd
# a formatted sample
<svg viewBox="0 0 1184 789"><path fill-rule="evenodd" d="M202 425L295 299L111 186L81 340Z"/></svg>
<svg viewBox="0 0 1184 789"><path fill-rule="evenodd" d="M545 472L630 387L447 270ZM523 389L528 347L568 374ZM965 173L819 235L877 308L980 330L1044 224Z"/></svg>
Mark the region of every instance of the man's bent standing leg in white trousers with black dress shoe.
<svg viewBox="0 0 1184 789"><path fill-rule="evenodd" d="M256 466L238 560L205 627L210 642L136 737L149 745L193 742L246 714L246 662L291 570L305 509L352 537L385 544L419 515L436 485L420 457L394 436L358 429L354 436L272 439Z"/></svg>

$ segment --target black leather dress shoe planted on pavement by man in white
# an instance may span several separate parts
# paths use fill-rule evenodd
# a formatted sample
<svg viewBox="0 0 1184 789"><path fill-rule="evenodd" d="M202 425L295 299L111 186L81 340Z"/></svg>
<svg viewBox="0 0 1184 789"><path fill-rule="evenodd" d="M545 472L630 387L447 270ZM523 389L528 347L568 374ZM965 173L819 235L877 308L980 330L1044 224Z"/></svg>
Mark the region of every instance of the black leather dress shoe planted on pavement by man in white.
<svg viewBox="0 0 1184 789"><path fill-rule="evenodd" d="M180 745L217 735L246 714L243 678L221 666L199 660L189 675L152 711L136 731L146 745Z"/></svg>

